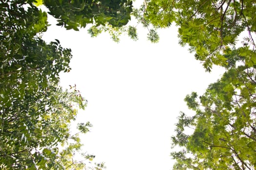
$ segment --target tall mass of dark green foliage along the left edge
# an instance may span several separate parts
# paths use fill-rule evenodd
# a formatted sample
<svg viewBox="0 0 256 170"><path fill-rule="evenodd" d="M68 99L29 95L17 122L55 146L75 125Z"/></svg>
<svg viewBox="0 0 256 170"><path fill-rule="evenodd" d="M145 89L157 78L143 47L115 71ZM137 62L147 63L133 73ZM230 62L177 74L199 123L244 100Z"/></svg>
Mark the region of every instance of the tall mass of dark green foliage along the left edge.
<svg viewBox="0 0 256 170"><path fill-rule="evenodd" d="M59 86L59 73L70 71L72 55L59 40L41 39L47 24L47 14L33 0L0 3L1 169L79 170L95 157L74 156L82 146L79 134L92 125L79 123L78 133L71 134L70 123L87 101L75 86ZM102 170L104 164L91 168Z"/></svg>

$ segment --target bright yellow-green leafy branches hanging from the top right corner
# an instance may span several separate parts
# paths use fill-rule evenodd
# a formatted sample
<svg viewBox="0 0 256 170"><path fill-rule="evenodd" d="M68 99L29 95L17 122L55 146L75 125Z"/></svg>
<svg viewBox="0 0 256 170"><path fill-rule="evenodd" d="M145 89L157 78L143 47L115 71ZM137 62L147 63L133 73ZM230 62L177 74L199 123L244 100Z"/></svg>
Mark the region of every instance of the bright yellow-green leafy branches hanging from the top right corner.
<svg viewBox="0 0 256 170"><path fill-rule="evenodd" d="M145 0L133 15L145 27L179 27L182 46L188 44L197 60L210 71L212 65L225 67L224 57L245 30L255 49L256 6L253 0Z"/></svg>

